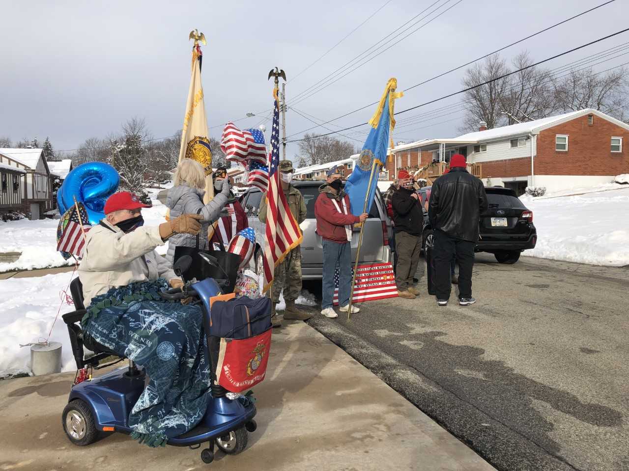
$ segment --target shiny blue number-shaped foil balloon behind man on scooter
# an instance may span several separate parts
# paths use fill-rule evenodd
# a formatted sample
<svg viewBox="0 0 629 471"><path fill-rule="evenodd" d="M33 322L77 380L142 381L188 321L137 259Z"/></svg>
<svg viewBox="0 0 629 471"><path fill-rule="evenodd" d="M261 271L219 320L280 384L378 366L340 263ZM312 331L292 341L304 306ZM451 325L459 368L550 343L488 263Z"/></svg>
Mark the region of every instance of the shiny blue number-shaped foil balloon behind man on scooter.
<svg viewBox="0 0 629 471"><path fill-rule="evenodd" d="M76 198L85 205L89 224L98 224L105 217L103 208L107 198L116 193L119 184L120 175L108 163L82 163L70 171L57 192L59 213L64 214L72 207Z"/></svg>

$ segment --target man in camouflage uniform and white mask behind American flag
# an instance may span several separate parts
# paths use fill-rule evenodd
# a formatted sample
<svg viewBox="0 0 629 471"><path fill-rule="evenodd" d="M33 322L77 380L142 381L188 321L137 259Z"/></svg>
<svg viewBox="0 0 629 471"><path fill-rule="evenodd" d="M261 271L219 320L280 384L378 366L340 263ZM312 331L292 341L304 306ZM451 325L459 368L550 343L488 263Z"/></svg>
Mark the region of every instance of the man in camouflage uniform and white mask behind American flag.
<svg viewBox="0 0 629 471"><path fill-rule="evenodd" d="M282 190L288 200L291 213L297 224L301 224L306 219L306 203L301 192L291 185L292 162L290 160L281 160L279 163L280 180L282 182ZM267 198L262 198L259 212L260 222L267 222ZM279 295L284 290L284 301L286 301L286 311L284 311L284 319L308 320L311 315L300 311L295 305L295 300L301 293L301 246L292 249L284 258L282 263L277 265L273 276L273 292L271 293L272 301L272 323L273 327L280 327L281 321L277 317L276 304L279 303Z"/></svg>

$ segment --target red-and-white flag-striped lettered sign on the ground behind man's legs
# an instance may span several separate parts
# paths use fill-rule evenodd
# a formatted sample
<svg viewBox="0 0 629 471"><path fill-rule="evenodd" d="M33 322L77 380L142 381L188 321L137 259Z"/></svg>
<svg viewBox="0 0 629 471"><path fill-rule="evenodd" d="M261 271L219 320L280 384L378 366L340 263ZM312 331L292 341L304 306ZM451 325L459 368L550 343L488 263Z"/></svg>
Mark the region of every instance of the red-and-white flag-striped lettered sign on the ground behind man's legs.
<svg viewBox="0 0 629 471"><path fill-rule="evenodd" d="M334 272L334 296L332 299L335 306L338 305L338 279L339 271L337 267ZM393 266L390 263L373 263L358 266L352 304L395 298L396 296L398 296L398 288L395 284Z"/></svg>

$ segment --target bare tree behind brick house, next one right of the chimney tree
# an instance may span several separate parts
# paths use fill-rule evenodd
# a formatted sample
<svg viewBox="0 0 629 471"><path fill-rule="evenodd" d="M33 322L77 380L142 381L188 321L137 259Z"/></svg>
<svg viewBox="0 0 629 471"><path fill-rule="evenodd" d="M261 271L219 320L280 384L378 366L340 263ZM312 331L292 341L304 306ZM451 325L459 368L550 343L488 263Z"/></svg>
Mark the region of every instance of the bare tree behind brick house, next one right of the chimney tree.
<svg viewBox="0 0 629 471"><path fill-rule="evenodd" d="M506 124L550 116L555 109L550 70L529 67L533 60L527 51L518 54L512 63L515 70L528 68L508 77L508 87L500 98Z"/></svg>

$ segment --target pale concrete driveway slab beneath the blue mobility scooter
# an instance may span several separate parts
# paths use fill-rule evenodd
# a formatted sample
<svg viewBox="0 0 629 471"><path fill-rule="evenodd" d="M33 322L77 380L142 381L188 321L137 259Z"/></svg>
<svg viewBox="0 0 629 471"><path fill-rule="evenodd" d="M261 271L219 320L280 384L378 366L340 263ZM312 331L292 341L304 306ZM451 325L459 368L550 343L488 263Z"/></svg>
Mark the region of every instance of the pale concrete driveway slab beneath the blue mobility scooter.
<svg viewBox="0 0 629 471"><path fill-rule="evenodd" d="M285 323L286 324L286 323ZM493 470L343 350L303 322L273 335L255 387L258 430L215 470ZM89 447L65 437L74 372L0 381L0 470L205 470L200 450L152 450L113 434Z"/></svg>

